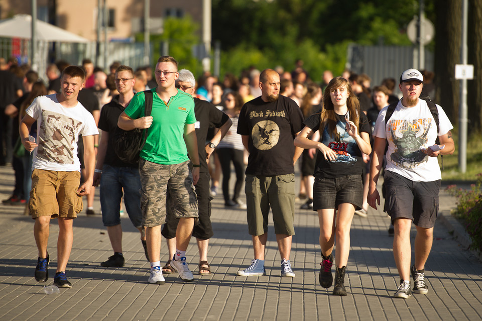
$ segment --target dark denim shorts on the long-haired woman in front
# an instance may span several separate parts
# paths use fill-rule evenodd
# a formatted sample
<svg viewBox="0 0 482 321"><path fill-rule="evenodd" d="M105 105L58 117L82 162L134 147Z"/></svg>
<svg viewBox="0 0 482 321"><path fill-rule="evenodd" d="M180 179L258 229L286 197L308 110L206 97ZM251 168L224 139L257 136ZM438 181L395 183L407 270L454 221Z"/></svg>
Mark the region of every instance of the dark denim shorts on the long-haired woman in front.
<svg viewBox="0 0 482 321"><path fill-rule="evenodd" d="M346 175L336 178L316 175L313 184L313 210L338 208L343 203L353 204L355 209L362 208L362 175Z"/></svg>

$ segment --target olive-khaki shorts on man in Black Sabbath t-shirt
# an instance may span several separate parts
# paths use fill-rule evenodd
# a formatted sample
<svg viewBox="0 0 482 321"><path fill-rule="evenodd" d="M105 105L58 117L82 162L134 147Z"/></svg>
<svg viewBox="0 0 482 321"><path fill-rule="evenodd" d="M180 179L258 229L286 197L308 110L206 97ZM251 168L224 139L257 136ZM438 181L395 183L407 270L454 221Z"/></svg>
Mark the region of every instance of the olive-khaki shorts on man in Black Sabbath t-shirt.
<svg viewBox="0 0 482 321"><path fill-rule="evenodd" d="M250 235L268 232L270 206L275 234L295 235L295 174L246 175L245 192Z"/></svg>

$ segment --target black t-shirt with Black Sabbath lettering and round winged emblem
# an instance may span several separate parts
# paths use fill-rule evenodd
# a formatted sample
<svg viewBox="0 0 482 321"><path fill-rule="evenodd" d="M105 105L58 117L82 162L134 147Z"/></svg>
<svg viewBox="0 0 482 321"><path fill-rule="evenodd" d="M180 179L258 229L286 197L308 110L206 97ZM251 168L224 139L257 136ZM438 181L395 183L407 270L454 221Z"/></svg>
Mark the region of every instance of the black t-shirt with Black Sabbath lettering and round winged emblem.
<svg viewBox="0 0 482 321"><path fill-rule="evenodd" d="M243 105L237 133L249 136L246 174L274 176L295 172L293 139L303 129L303 113L293 99L279 95L272 102L260 97Z"/></svg>

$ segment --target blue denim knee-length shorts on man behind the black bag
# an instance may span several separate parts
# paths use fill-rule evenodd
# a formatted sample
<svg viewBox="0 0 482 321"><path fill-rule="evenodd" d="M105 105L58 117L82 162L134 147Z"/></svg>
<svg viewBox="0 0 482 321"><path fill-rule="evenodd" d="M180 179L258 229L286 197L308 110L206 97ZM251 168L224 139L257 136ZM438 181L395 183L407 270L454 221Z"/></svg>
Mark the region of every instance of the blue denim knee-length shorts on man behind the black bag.
<svg viewBox="0 0 482 321"><path fill-rule="evenodd" d="M121 201L124 188L124 204L136 228L142 226L141 177L134 167L104 165L100 177L100 206L104 226L121 224Z"/></svg>

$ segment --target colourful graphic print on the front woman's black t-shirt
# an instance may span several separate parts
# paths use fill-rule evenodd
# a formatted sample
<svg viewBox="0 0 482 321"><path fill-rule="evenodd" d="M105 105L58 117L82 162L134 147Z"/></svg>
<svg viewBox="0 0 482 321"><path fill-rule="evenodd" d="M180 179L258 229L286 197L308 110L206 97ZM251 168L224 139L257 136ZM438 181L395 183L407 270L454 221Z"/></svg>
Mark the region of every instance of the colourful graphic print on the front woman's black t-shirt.
<svg viewBox="0 0 482 321"><path fill-rule="evenodd" d="M353 147L356 146L355 140L348 135L345 124L338 121L336 123L336 135L332 137L328 132L328 126L323 130L322 143L331 148L337 155L333 163L354 164L357 160L352 157Z"/></svg>

